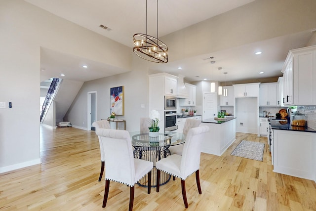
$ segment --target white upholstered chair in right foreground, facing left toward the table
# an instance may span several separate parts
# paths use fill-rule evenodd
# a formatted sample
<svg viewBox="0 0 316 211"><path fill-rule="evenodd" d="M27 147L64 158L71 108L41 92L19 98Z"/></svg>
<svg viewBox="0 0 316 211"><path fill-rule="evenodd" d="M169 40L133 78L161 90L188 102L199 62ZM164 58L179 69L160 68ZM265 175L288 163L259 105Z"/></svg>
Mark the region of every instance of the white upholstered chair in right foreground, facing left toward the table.
<svg viewBox="0 0 316 211"><path fill-rule="evenodd" d="M185 181L188 176L196 173L197 190L202 194L199 182L199 162L201 154L201 143L205 133L209 130L208 126L199 126L191 128L187 134L186 142L184 143L182 156L170 155L161 159L156 163L157 169L157 192L159 192L160 171L164 171L181 179L182 197L186 208L189 207Z"/></svg>

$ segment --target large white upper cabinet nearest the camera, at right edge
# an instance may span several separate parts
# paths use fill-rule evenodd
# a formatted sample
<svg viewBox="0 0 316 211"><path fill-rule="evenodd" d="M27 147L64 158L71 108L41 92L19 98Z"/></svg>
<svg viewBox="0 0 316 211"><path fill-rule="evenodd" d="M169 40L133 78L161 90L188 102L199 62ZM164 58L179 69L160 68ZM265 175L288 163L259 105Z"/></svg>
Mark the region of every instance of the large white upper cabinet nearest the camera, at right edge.
<svg viewBox="0 0 316 211"><path fill-rule="evenodd" d="M316 105L316 45L290 50L282 73L284 105Z"/></svg>

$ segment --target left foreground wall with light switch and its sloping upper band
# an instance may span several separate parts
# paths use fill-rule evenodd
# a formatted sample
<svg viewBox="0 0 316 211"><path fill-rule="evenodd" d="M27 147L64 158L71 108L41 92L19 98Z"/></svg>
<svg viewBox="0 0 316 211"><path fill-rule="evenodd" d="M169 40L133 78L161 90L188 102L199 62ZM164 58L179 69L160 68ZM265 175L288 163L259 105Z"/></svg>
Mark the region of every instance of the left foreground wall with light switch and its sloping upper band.
<svg viewBox="0 0 316 211"><path fill-rule="evenodd" d="M129 47L23 0L0 1L0 46L0 172L40 163L41 46L125 70L132 64Z"/></svg>

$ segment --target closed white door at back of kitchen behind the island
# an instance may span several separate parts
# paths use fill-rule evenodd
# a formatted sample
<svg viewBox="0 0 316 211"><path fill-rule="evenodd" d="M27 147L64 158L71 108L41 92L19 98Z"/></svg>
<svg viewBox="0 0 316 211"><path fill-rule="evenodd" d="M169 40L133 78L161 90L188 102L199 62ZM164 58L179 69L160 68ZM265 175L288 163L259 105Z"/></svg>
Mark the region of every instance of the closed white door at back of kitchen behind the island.
<svg viewBox="0 0 316 211"><path fill-rule="evenodd" d="M217 93L203 93L202 120L214 118L217 115Z"/></svg>

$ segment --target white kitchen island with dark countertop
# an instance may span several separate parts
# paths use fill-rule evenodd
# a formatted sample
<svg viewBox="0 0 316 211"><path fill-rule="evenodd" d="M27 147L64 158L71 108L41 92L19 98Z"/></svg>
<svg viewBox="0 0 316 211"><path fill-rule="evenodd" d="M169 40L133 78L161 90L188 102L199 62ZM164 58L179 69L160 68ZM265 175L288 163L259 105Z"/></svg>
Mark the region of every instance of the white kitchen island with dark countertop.
<svg viewBox="0 0 316 211"><path fill-rule="evenodd" d="M211 118L202 120L201 125L209 127L202 142L202 152L221 156L225 150L236 140L236 118Z"/></svg>

